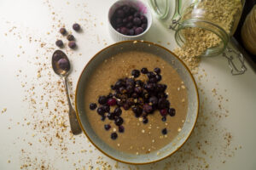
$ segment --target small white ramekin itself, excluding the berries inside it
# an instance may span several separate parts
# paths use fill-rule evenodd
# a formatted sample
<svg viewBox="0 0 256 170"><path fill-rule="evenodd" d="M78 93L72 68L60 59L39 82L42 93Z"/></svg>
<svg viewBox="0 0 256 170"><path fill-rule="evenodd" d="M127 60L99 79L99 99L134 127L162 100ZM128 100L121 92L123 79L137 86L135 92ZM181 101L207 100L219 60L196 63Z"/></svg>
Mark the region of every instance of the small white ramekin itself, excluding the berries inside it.
<svg viewBox="0 0 256 170"><path fill-rule="evenodd" d="M111 25L111 17L113 16L114 11L119 8L122 5L128 5L133 8L137 8L138 12L140 14L143 14L147 17L148 20L148 27L143 33L137 35L137 36L126 36L124 34L119 33L119 31L116 31L113 26ZM125 40L142 40L143 37L146 35L148 32L149 28L152 25L152 15L150 12L150 8L148 7L148 4L143 3L142 1L139 0L119 0L109 8L108 11L108 30L110 33L110 36L113 38L114 41L119 42L119 41L125 41Z"/></svg>

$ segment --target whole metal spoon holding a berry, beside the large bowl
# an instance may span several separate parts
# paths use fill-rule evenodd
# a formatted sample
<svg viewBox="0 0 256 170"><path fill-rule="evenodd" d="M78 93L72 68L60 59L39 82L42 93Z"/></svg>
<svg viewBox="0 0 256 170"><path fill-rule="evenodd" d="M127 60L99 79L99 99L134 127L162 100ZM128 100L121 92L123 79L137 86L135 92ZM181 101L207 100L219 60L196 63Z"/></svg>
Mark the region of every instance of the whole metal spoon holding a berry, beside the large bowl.
<svg viewBox="0 0 256 170"><path fill-rule="evenodd" d="M76 112L73 110L73 106L71 104L69 94L68 94L68 88L67 88L67 76L70 71L70 62L66 54L64 54L61 50L56 50L52 56L51 64L55 73L61 77L62 82L64 83L64 87L67 94L67 102L69 106L68 116L69 116L71 131L73 134L79 134L82 132L82 130L81 130L81 127L79 126Z"/></svg>

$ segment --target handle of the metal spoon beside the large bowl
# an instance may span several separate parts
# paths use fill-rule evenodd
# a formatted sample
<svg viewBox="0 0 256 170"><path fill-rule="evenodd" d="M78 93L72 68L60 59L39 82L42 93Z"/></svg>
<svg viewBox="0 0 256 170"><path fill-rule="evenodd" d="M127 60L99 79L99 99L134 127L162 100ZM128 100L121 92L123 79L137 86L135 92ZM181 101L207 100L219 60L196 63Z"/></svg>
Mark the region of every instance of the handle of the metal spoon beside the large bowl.
<svg viewBox="0 0 256 170"><path fill-rule="evenodd" d="M67 94L67 102L68 102L68 106L69 106L68 116L69 116L71 131L73 134L79 134L82 132L82 130L81 130L81 127L79 126L78 118L76 116L76 111L73 110L73 106L72 106L70 98L69 98L68 88L67 88L67 78L62 77L62 81L64 83L65 91Z"/></svg>

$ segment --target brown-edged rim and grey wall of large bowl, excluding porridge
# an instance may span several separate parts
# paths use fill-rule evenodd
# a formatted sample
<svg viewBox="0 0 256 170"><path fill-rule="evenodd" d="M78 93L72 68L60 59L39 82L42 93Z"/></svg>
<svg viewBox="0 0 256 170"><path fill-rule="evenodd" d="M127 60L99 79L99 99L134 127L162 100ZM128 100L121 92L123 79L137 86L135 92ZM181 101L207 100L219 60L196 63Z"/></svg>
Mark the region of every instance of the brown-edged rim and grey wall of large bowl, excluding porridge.
<svg viewBox="0 0 256 170"><path fill-rule="evenodd" d="M183 79L184 85L187 87L188 91L188 113L181 132L177 134L177 137L173 139L170 144L167 144L160 150L145 155L133 155L120 152L119 150L114 150L113 148L108 146L108 144L105 144L90 127L90 123L88 122L86 113L84 111L84 87L88 85L87 80L89 79L92 72L95 71L97 65L100 65L105 59L111 58L115 54L131 50L148 52L160 56L162 59L165 59L166 62L172 65L173 68L177 69L177 73ZM84 133L86 134L88 139L90 139L91 143L94 144L96 148L101 150L107 156L112 157L113 159L118 161L133 164L144 164L154 161L160 161L161 159L165 158L166 156L170 156L172 153L178 150L189 138L190 133L195 127L195 122L199 110L199 99L195 80L190 74L188 68L183 64L183 62L181 62L180 59L177 59L177 57L172 54L172 52L170 52L166 48L160 47L159 45L155 45L151 42L135 43L132 41L115 43L108 48L102 49L102 51L100 51L98 54L95 55L94 58L90 60L90 62L84 67L84 71L79 77L79 82L76 89L75 104L77 114L79 116L80 125L82 126Z"/></svg>

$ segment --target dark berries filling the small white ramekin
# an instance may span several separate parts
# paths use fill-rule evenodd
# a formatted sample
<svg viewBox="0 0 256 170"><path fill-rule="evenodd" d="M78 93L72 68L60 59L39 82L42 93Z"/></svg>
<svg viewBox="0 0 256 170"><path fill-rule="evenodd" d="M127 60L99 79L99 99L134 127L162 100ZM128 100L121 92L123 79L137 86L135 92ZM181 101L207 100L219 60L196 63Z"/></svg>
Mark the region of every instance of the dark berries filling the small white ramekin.
<svg viewBox="0 0 256 170"><path fill-rule="evenodd" d="M140 14L136 8L122 5L115 10L111 18L111 24L116 31L126 36L136 36L148 27L145 15Z"/></svg>

